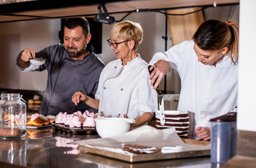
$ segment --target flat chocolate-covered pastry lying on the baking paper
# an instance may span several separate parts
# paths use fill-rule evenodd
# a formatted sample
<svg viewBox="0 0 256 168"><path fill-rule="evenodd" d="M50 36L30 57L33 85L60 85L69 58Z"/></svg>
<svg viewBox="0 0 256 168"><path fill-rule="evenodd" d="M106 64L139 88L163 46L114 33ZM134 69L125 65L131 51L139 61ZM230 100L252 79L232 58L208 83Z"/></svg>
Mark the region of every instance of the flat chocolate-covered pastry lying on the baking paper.
<svg viewBox="0 0 256 168"><path fill-rule="evenodd" d="M141 146L137 144L121 144L123 151L135 154L151 154L161 152L161 148L154 146Z"/></svg>

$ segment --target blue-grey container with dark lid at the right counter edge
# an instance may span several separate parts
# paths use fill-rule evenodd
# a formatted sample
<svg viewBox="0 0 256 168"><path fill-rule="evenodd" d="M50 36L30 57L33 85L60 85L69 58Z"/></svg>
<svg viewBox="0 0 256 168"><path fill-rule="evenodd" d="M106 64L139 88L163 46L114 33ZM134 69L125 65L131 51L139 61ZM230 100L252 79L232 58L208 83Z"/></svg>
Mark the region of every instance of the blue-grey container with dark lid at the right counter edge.
<svg viewBox="0 0 256 168"><path fill-rule="evenodd" d="M212 118L210 135L210 160L227 162L236 154L236 113Z"/></svg>

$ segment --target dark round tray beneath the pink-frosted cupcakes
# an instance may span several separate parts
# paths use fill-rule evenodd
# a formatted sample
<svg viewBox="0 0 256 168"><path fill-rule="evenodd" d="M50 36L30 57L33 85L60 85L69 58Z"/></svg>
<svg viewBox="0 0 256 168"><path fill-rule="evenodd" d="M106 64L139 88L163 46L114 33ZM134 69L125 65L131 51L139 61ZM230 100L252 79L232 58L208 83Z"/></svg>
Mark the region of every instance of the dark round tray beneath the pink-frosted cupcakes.
<svg viewBox="0 0 256 168"><path fill-rule="evenodd" d="M60 130L62 132L67 132L72 134L78 134L80 132L85 132L86 134L92 134L93 132L96 132L95 127L94 128L70 128L70 127L65 127L55 123L53 123L53 127L55 127L56 130Z"/></svg>

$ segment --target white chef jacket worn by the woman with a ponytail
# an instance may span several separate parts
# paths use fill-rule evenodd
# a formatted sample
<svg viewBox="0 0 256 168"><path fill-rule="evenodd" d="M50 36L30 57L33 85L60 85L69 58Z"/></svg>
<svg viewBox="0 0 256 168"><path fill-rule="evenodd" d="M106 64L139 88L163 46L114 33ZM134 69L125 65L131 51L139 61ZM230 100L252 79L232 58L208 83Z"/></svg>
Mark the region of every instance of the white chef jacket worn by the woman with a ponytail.
<svg viewBox="0 0 256 168"><path fill-rule="evenodd" d="M159 59L170 62L181 79L177 110L189 111L189 133L196 127L210 127L209 120L237 106L238 66L224 56L216 66L198 62L194 41L184 41L166 52L157 52L149 64Z"/></svg>

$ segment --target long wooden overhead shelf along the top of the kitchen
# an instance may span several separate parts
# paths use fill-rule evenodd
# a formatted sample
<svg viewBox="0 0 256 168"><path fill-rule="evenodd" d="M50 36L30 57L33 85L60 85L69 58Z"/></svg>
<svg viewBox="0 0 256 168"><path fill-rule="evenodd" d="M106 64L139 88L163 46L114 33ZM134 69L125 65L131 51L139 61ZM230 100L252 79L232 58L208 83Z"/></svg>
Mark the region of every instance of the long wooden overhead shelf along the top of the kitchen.
<svg viewBox="0 0 256 168"><path fill-rule="evenodd" d="M90 16L98 12L97 6L105 3L109 14L128 13L130 11L147 12L175 8L191 8L198 6L224 6L238 4L239 0L72 0L72 1L22 1L0 5L0 23L22 20L40 20Z"/></svg>

